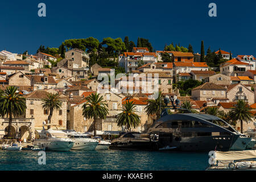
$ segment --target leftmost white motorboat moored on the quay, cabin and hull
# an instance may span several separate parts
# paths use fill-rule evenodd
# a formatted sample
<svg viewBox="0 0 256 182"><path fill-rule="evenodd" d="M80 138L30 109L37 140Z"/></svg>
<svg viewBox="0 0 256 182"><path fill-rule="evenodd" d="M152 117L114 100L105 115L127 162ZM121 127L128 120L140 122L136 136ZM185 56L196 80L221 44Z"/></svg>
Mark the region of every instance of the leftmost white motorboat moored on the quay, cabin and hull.
<svg viewBox="0 0 256 182"><path fill-rule="evenodd" d="M68 138L67 133L60 130L45 130L44 127L39 133L39 139L34 140L35 146L45 148L46 151L69 151L74 143L74 140Z"/></svg>

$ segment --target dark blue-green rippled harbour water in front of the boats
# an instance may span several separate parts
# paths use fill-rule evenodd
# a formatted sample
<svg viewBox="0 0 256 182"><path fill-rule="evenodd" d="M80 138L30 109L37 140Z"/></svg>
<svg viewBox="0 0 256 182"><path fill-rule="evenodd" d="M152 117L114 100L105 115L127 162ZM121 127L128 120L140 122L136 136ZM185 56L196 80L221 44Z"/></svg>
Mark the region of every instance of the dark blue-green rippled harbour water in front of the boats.
<svg viewBox="0 0 256 182"><path fill-rule="evenodd" d="M46 165L38 164L36 151L0 151L0 171L4 170L205 170L208 153L150 151L69 151L46 152Z"/></svg>

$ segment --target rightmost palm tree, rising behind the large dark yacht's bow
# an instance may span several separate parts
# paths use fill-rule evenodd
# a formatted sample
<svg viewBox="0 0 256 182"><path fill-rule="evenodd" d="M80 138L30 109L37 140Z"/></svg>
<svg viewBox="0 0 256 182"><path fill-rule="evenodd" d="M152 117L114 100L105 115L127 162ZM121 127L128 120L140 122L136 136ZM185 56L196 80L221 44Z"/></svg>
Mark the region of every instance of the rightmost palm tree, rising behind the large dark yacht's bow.
<svg viewBox="0 0 256 182"><path fill-rule="evenodd" d="M252 121L251 117L252 114L250 113L250 107L247 106L245 101L239 100L237 104L232 107L232 113L230 114L231 118L234 120L238 120L241 123L241 133L243 133L243 122L250 122Z"/></svg>

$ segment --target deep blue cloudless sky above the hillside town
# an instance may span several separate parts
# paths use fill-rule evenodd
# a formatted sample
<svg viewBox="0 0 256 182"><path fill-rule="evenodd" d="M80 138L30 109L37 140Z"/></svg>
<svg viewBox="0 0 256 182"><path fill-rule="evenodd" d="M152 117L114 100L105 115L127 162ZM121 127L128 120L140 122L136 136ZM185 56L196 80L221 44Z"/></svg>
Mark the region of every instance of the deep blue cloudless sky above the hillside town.
<svg viewBox="0 0 256 182"><path fill-rule="evenodd" d="M47 16L38 16L46 3ZM217 4L217 17L208 16L208 5ZM3 1L0 11L0 50L34 54L40 45L59 47L65 39L125 38L137 44L149 39L155 50L180 43L200 53L208 47L256 56L256 1Z"/></svg>

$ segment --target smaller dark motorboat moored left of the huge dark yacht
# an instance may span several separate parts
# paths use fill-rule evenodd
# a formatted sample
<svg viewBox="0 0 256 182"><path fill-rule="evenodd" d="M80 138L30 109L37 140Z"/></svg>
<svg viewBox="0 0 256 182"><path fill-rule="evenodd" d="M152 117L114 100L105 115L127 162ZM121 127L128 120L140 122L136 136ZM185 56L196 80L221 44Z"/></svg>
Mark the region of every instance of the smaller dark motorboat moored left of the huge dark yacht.
<svg viewBox="0 0 256 182"><path fill-rule="evenodd" d="M122 134L119 138L114 139L110 149L117 150L158 150L158 142L153 140L148 134L138 132L128 132Z"/></svg>

